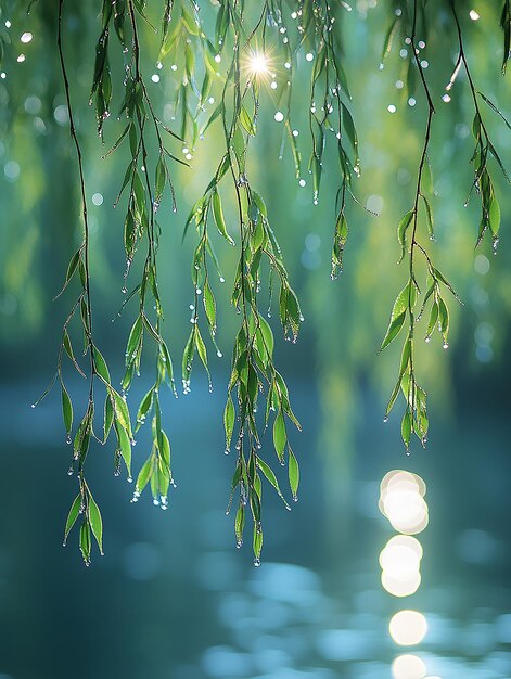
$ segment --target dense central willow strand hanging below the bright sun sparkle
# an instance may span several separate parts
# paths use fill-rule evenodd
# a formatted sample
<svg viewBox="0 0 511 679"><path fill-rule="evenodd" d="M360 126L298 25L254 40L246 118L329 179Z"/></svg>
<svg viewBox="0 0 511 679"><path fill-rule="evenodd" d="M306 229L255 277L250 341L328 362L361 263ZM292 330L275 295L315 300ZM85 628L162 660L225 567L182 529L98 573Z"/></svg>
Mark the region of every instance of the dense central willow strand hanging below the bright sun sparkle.
<svg viewBox="0 0 511 679"><path fill-rule="evenodd" d="M271 11L268 3L265 12ZM280 489L277 475L263 459L260 428L268 428L273 415L273 446L278 461L288 462L289 482L292 496L297 499L298 464L288 439L284 415L299 428L299 424L291 409L288 387L273 362L273 334L258 306L258 293L261 283L263 261L269 264L269 296L271 304L272 277L280 283L279 316L284 335L296 341L301 310L296 294L292 290L281 249L268 220L265 201L252 188L247 169L247 151L250 139L257 129L257 112L259 107L259 81L256 74L246 73L244 78L242 60L250 60L254 53L252 42L259 39L265 44L266 24L260 20L256 28L247 35L243 27L243 10L235 3L226 2L220 8L216 25L216 40L220 52L226 46L227 17L234 26L232 35L233 56L222 80L221 102L218 113L214 112L207 126L217 117L221 120L226 140L226 153L220 159L217 171L207 185L203 196L193 206L186 225L194 222L199 243L194 252L192 282L195 290L195 305L192 313L192 331L183 353L183 387L189 388L190 372L195 351L207 370L207 355L199 330L199 297L203 293L204 316L209 334L215 342L216 302L212 291L207 264L210 259L217 266L217 257L208 234L208 220L213 215L219 234L231 246L234 239L229 233L222 208L220 183L230 177L238 207L238 231L240 238L240 258L234 277L232 305L242 317L241 328L234 342L232 370L228 386L228 399L225 408L223 422L226 430L226 453L229 453L231 441L235 440L237 465L232 477L231 498L228 512L234 496L238 494L238 509L234 522L237 546L243 543L246 507L253 523L254 563L260 563L263 547L261 524L261 476L270 483L283 500L290 505ZM277 23L278 25L278 23ZM258 27L260 33L258 35ZM231 47L229 44L229 47ZM242 81L244 79L244 81ZM226 178L226 180L225 180ZM219 272L220 277L221 273ZM220 278L220 280L222 280ZM270 311L269 311L270 313ZM215 344L216 346L216 344ZM218 347L217 353L218 353ZM265 402L263 424L257 415L258 401Z"/></svg>

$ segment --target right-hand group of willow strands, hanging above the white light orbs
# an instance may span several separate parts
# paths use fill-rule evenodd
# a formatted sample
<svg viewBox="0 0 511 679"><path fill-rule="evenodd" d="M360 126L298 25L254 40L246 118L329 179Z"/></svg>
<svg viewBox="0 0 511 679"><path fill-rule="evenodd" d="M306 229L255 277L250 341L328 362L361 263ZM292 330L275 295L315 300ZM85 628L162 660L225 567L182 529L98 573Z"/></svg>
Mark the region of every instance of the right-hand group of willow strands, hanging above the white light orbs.
<svg viewBox="0 0 511 679"><path fill-rule="evenodd" d="M504 60L502 71L506 71L506 63L509 59L509 26L506 28L506 11L509 11L509 3L504 2L502 11L502 28L504 29ZM469 87L472 93L475 115L472 125L472 132L475 139L475 150L471 158L471 163L474 164L475 177L472 184L472 190L475 189L481 194L482 201L482 219L477 236L476 245L482 241L485 232L490 231L493 236L494 251L497 247L499 239L500 228L500 208L497 197L495 195L494 182L490 177L488 168L489 154L495 158L506 179L509 181L508 174L504 166L491 144L487 129L484 125L478 106L477 95L480 95L494 111L504 120L506 125L510 127L508 120L501 114L501 112L481 92L475 89L474 82L471 77L464 46L462 38L461 25L458 18L456 3L452 0L450 2L451 15L453 18L453 26L457 30L459 56L455 66L452 76L446 87L449 91L459 74L461 66L464 67ZM419 28L420 26L420 28ZM430 342L435 330L438 330L444 348L448 348L448 332L449 332L449 309L446 302L444 291L449 291L455 298L461 303L453 291L451 284L446 277L435 267L433 264L431 254L426 246L421 242L419 235L419 220L420 220L420 204L423 205L423 218L426 227L426 232L431 241L435 240L434 235L434 217L433 208L431 204L431 196L434 194L432 169L430 159L427 156L427 150L432 138L432 121L435 114L435 106L433 104L433 98L430 86L426 80L425 71L419 57L420 50L417 48L417 36L419 30L424 39L427 41L429 24L426 21L425 2L422 0L414 0L412 3L412 11L408 10L408 7L403 10L396 7L395 16L387 30L385 43L383 47L382 64L385 56L392 50L392 44L396 35L401 31L401 37L406 44L410 47L409 59L406 65L405 81L407 84L407 95L414 93L414 84L417 80L422 85L424 99L427 106L426 127L424 132L424 144L419 161L418 180L414 195L414 203L412 209L407 212L399 221L397 228L397 239L401 247L401 257L399 261L408 258L408 280L405 287L398 294L391 313L391 319L386 334L383 338L380 350L383 350L388 346L393 340L397 337L404 326L407 326L406 337L403 345L399 372L396 385L392 392L391 398L385 412L385 421L388 419L389 412L396 402L399 393L403 393L405 399L405 412L401 419L401 437L409 452L411 436L416 435L425 447L427 441L429 418L426 410L426 394L424 389L417 383L416 380L416 360L414 360L414 341L416 341L416 324L421 320L426 306L429 306L429 321L425 330L425 341ZM425 44L425 42L423 43ZM414 75L411 75L414 74ZM510 128L511 129L511 128ZM469 194L470 197L470 194ZM467 200L465 205L468 204ZM421 293L417 280L417 261L416 253L422 256L426 269L426 284L425 292ZM419 304L422 295L422 304L420 305L419 312L416 313L416 308ZM408 322L407 322L408 321Z"/></svg>

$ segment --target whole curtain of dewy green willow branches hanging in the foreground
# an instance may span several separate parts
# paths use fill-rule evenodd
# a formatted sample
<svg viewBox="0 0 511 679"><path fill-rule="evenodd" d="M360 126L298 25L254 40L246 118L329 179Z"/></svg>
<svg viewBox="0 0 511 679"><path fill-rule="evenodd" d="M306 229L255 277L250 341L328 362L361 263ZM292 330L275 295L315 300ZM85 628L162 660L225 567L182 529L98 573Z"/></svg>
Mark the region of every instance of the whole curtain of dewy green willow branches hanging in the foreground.
<svg viewBox="0 0 511 679"><path fill-rule="evenodd" d="M425 106L423 143L417 158L417 183L410 196L411 208L397 228L401 249L400 261L406 261L406 282L394 303L388 329L381 350L388 346L405 329L398 379L391 395L385 419L388 418L399 394L403 394L405 412L401 437L407 451L412 436L422 446L427 440L429 418L426 394L418 382L416 342L419 322L427 311L424 329L429 342L438 330L444 348L448 346L449 308L447 291L458 298L451 284L442 273L434 257L434 195L430 148L435 131L435 93L426 77L421 50L430 36L430 16L434 10L425 0L408 0L391 4L392 21L382 51L382 64L398 39L405 41L406 90L414 91L416 82L422 90ZM473 81L465 52L465 31L459 18L455 0L438 1L446 5L452 18L452 33L457 38L458 60L447 85L449 92L460 69L467 74L474 106L472 131L475 149L472 157L474 180L470 191L481 195L482 219L477 244L487 231L496 247L500 229L500 208L491 175L493 157L509 180L504 165L490 140L481 112L485 102L497 113L508 128L510 124L498 107ZM167 494L174 477L170 464L170 443L164 428L165 414L159 401L161 387L167 383L177 396L173 361L167 340L164 338L164 313L158 291L158 247L161 227L158 210L167 192L173 219L177 210L174 189L176 163L187 166L192 159L195 144L204 136L221 134L222 150L214 159L210 180L189 213L183 238L194 238L191 267L193 304L191 330L181 361L182 392L191 389L195 356L205 369L213 389L208 346L217 357L222 353L217 344L219 309L217 285L226 283L220 262L222 252L235 249L238 266L232 281L231 303L239 313L240 324L232 347L231 372L223 411L226 453L234 447L233 475L228 511L235 507L234 534L238 547L242 546L245 521L252 523L254 563L260 564L263 548L263 482L266 479L291 509L286 492L281 490L272 465L272 453L264 446L263 434L271 431L272 448L277 462L286 467L291 498L297 499L299 469L290 443L290 428L301 425L293 413L290 395L274 358L276 337L281 334L292 343L298 337L303 321L301 306L285 268L279 245L279 225L270 226L267 201L252 177L251 150L258 132L258 116L263 98L276 107L274 119L282 123L280 157L286 148L291 151L293 171L299 185L305 187L303 149L298 131L292 120L296 106L293 93L294 74L307 63L311 66L307 101L310 155L305 171L310 175L312 202L319 201L323 158L327 149L334 146L337 162L337 192L335 197L335 225L331 258L331 278L343 269L344 251L348 238L349 198L359 204L354 191L355 178L360 175L359 141L354 121L352 97L344 60L341 26L350 10L346 2L328 0L265 0L250 3L243 0L220 0L215 7L201 8L192 0L162 0L159 51L156 66L170 65L175 85L173 97L174 120L178 131L164 125L149 95L144 75L143 55L146 47L143 30L150 23L145 0L103 0L100 13L101 30L95 46L90 104L94 105L97 129L103 140L111 123L113 106L118 104L119 130L116 141L104 153L111 154L128 146L129 162L115 206L124 205L124 249L126 270L123 279L125 299L122 310L132 311L131 329L125 353L125 373L122 390L112 385L105 359L97 347L92 334L92 307L90 281L90 242L87 214L84 158L75 127L69 80L63 48L63 8L58 8L58 51L69 115L69 133L77 155L81 196L82 241L71 258L64 282L64 292L77 279L78 296L71 307L63 326L55 375L44 392L59 381L62 408L68 443L73 443L69 473L77 473L78 495L74 500L65 526L65 540L78 517L81 517L79 543L85 562L90 562L91 539L95 538L102 551L102 518L85 477L85 461L92 439L105 445L113 432L115 437L114 473L118 475L124 463L131 482L133 435L145 421L151 423L151 450L137 474L132 501L136 502L145 487L151 489L153 502L167 509ZM0 3L1 9L1 3ZM210 29L209 27L214 27ZM500 26L503 31L502 73L510 59L511 10L509 0L502 2ZM7 44L0 33L0 62ZM122 72L112 73L111 64L118 61L112 50L122 54ZM443 59L442 56L439 59ZM277 72L284 75L278 78ZM153 76L154 78L154 76ZM158 77L159 78L159 77ZM449 99L450 95L447 95ZM444 101L446 101L444 95ZM214 106L215 104L215 106ZM331 140L331 141L329 141ZM176 152L176 146L179 151ZM182 152L184 161L178 153ZM305 174L307 177L307 174ZM235 213L232 214L231 206ZM181 222L178 222L181 223ZM182 226L182 225L181 225ZM194 233L193 233L194 232ZM130 273L136 259L140 259L141 276L132 286ZM422 279L425 285L422 286ZM268 287L268 299L261 302L261 286ZM269 302L267 312L263 304ZM274 333L270 323L273 308L282 333ZM266 317L266 318L265 318ZM89 367L84 370L69 338L71 324L80 324L84 332L84 356ZM127 405L127 394L135 375L140 373L142 356L152 345L155 357L154 381L137 409L132 427ZM149 350L151 354L151 350ZM74 409L64 383L64 359L67 357L77 372L89 381L89 398L85 414L74 426ZM97 386L104 389L101 436L94 433L94 413L98 400ZM74 438L73 438L74 433ZM273 458L274 459L274 458Z"/></svg>

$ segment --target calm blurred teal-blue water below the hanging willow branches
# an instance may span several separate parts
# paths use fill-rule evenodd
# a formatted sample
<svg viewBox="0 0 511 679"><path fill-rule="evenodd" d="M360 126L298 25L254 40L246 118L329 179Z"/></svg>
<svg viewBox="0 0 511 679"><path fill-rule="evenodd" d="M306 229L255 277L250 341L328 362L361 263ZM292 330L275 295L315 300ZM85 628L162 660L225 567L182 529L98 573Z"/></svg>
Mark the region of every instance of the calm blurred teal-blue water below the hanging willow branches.
<svg viewBox="0 0 511 679"><path fill-rule="evenodd" d="M511 677L506 422L471 412L456 428L437 421L429 450L407 459L395 423L368 413L372 426L357 432L332 508L316 399L295 385L308 423L296 444L301 499L286 512L266 491L264 563L255 568L250 540L234 548L223 511L233 459L222 452L221 399L197 384L169 401L178 489L168 512L150 498L130 504L132 486L114 478L111 451L91 454L105 556L86 569L75 535L61 547L76 481L66 474L56 395L30 410L38 388L0 393L0 679L385 679L405 653L431 677ZM143 436L135 452L140 462ZM406 599L382 588L378 562L394 535L378 511L379 485L394 467L427 484L422 584ZM389 636L401 608L426 617L416 646ZM418 671L398 679L424 676Z"/></svg>

